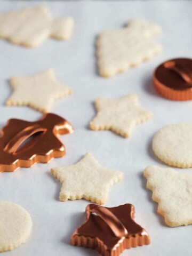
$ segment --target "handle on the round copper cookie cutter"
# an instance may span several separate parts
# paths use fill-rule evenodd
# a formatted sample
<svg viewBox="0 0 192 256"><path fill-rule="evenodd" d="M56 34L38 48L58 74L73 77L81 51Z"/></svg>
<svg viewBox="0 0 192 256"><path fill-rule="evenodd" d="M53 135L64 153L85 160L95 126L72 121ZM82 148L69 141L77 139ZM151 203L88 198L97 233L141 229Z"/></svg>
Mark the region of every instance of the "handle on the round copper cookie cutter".
<svg viewBox="0 0 192 256"><path fill-rule="evenodd" d="M187 84L191 87L192 84L192 72L185 65L181 65L175 61L167 61L164 63L164 67L173 70L177 73Z"/></svg>

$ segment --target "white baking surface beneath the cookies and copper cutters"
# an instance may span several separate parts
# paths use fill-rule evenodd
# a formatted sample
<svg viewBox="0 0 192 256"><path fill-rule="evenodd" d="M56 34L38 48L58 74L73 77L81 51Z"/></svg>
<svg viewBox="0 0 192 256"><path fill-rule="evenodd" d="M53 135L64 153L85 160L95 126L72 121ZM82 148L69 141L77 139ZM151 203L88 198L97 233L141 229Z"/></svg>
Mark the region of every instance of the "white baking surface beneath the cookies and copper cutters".
<svg viewBox="0 0 192 256"><path fill-rule="evenodd" d="M19 10L38 5L37 2L1 2L0 11ZM70 41L48 39L37 49L26 49L0 40L0 125L9 118L35 121L42 114L28 107L6 107L11 94L8 79L13 75L33 75L54 68L60 82L74 94L55 102L52 112L68 119L75 133L61 136L67 154L48 164L36 164L29 169L0 174L0 199L25 207L33 219L33 232L28 242L2 256L81 256L98 255L95 250L70 245L70 236L84 220L85 200L60 202L60 183L51 167L76 163L86 152L93 154L105 167L125 173L123 181L114 185L106 206L132 203L135 220L148 231L151 244L125 250L132 256L191 256L192 226L169 228L157 214L157 203L145 189L142 170L150 164L164 166L151 151L151 139L156 131L174 122L191 122L192 102L174 102L159 97L151 85L154 68L162 61L192 55L192 2L129 1L129 2L42 2L50 7L55 18L71 15L76 27ZM105 29L121 28L132 18L154 21L163 33L156 37L163 53L124 74L106 79L97 75L95 37ZM91 131L88 124L95 115L93 100L97 97L121 97L137 93L141 105L153 111L154 118L135 127L130 139L110 131ZM30 93L30 92L29 92ZM43 97L43 95L42 95ZM179 172L186 170L178 169ZM191 172L191 169L187 170ZM86 181L85 181L86 182ZM182 210L182 209L181 209Z"/></svg>

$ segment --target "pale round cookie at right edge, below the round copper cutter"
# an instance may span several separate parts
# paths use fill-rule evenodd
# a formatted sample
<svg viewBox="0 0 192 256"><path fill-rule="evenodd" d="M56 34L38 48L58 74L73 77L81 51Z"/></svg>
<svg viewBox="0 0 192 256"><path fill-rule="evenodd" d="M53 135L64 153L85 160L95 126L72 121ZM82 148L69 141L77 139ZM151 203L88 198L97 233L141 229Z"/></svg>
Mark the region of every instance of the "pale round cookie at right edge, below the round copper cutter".
<svg viewBox="0 0 192 256"><path fill-rule="evenodd" d="M155 134L152 147L155 155L167 165L192 167L192 123L164 127Z"/></svg>

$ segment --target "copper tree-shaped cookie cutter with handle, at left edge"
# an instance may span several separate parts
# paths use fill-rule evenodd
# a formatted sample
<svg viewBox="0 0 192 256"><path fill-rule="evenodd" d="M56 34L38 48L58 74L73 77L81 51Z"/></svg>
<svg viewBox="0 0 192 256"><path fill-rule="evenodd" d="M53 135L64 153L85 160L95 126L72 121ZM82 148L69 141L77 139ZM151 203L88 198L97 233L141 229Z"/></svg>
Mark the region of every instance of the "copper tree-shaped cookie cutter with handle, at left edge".
<svg viewBox="0 0 192 256"><path fill-rule="evenodd" d="M47 163L65 155L65 146L58 135L72 132L70 123L51 113L37 122L10 119L1 131L0 172L13 172L18 167Z"/></svg>

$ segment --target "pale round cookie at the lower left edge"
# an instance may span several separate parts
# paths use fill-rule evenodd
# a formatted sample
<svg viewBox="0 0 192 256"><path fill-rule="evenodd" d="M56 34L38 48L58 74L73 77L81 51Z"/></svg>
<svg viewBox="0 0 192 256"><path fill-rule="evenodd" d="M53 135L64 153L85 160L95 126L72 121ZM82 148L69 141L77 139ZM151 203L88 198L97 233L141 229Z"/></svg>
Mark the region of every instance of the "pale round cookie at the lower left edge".
<svg viewBox="0 0 192 256"><path fill-rule="evenodd" d="M0 252L11 251L27 241L32 221L18 204L0 201Z"/></svg>

